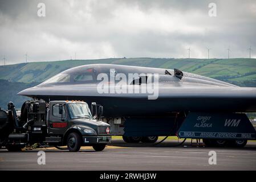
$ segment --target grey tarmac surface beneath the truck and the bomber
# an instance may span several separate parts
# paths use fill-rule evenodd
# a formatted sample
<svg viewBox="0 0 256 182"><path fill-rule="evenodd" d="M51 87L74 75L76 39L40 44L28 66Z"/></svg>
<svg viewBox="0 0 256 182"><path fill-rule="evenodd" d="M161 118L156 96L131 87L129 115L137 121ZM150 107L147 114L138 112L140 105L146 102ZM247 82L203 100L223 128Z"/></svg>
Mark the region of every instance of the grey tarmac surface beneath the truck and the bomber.
<svg viewBox="0 0 256 182"><path fill-rule="evenodd" d="M256 142L244 148L170 147L169 141L157 147L126 144L113 140L104 151L83 147L79 152L43 148L46 164L39 165L40 149L22 152L0 150L0 170L256 170ZM217 164L209 164L209 151L217 154Z"/></svg>

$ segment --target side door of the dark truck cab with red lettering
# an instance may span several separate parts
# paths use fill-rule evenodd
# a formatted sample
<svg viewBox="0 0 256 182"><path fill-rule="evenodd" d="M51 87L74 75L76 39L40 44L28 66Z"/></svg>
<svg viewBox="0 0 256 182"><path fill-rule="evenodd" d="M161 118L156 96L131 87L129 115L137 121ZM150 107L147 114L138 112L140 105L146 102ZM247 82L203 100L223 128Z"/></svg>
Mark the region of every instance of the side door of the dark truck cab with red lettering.
<svg viewBox="0 0 256 182"><path fill-rule="evenodd" d="M62 111L60 111L62 110ZM67 108L66 105L50 104L48 132L53 135L63 135L67 130Z"/></svg>

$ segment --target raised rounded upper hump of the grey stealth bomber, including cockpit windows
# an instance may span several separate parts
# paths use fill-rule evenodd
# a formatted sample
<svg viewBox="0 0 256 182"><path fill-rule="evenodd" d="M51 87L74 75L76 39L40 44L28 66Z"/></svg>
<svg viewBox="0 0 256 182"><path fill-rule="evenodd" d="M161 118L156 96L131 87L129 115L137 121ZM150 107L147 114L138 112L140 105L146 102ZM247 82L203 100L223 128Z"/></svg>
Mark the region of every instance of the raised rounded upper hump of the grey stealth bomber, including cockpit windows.
<svg viewBox="0 0 256 182"><path fill-rule="evenodd" d="M105 76L102 77L101 73ZM178 69L131 67L115 64L90 64L71 68L44 81L40 86L48 84L97 84L99 82L117 83L123 81L127 85L141 85L150 82L154 74L159 75L159 82L161 84L180 84L179 81L182 81L183 83L188 82L189 84L235 86L223 81L214 80L213 78L182 72Z"/></svg>

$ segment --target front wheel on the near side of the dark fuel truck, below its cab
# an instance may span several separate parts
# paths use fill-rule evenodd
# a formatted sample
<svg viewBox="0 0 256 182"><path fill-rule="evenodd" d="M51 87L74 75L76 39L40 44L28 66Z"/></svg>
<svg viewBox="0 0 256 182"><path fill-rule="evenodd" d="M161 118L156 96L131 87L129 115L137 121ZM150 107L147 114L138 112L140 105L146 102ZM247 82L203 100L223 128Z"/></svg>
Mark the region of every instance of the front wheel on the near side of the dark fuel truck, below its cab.
<svg viewBox="0 0 256 182"><path fill-rule="evenodd" d="M77 152L82 145L82 138L78 133L70 133L67 137L67 148L70 152Z"/></svg>

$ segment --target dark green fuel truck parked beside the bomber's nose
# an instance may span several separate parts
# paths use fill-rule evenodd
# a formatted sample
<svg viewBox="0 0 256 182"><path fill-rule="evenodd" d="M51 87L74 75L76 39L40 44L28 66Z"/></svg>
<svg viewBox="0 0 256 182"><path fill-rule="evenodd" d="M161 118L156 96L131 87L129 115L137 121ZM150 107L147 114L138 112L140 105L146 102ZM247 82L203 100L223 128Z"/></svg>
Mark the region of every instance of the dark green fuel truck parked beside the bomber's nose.
<svg viewBox="0 0 256 182"><path fill-rule="evenodd" d="M81 146L104 150L111 142L110 125L100 121L103 107L95 102L91 110L84 101L26 101L18 116L15 105L0 109L0 147L21 151L34 144L62 148L71 152Z"/></svg>

